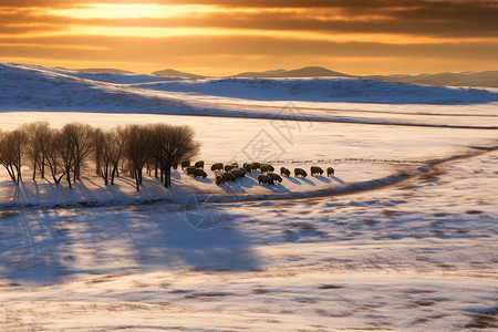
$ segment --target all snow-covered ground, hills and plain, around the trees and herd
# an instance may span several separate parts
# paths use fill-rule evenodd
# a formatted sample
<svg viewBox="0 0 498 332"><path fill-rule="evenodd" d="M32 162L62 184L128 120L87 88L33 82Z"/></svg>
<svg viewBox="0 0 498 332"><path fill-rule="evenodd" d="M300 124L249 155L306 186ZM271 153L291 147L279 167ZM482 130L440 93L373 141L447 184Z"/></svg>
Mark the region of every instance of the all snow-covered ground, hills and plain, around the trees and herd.
<svg viewBox="0 0 498 332"><path fill-rule="evenodd" d="M176 172L136 191L87 174L71 190L2 169L0 330L498 329L496 93L101 75L1 63L1 128L189 124L207 164L335 176L218 187ZM361 93L323 100L338 84Z"/></svg>

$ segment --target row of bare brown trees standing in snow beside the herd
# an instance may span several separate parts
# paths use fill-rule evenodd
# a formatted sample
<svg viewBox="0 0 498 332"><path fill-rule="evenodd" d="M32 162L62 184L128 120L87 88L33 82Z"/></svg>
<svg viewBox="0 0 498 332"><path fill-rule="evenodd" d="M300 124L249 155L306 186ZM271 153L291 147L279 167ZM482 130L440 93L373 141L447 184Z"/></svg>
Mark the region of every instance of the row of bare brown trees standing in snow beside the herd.
<svg viewBox="0 0 498 332"><path fill-rule="evenodd" d="M48 122L35 122L0 132L0 164L17 184L22 180L22 167L30 166L33 180L49 174L55 184L65 178L72 188L82 170L94 166L106 185L125 172L139 190L146 167L169 187L172 168L199 152L194 136L187 125L126 125L104 131L82 123L52 128Z"/></svg>

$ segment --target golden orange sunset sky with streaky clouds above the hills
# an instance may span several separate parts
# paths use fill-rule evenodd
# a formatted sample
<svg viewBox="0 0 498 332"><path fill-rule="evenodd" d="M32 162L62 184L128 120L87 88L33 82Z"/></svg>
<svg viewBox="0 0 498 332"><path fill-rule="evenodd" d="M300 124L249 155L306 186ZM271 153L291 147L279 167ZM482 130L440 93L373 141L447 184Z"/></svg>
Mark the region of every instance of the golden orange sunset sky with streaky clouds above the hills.
<svg viewBox="0 0 498 332"><path fill-rule="evenodd" d="M203 75L498 70L498 0L0 0L0 60Z"/></svg>

